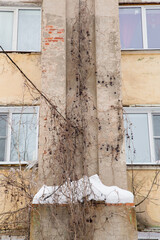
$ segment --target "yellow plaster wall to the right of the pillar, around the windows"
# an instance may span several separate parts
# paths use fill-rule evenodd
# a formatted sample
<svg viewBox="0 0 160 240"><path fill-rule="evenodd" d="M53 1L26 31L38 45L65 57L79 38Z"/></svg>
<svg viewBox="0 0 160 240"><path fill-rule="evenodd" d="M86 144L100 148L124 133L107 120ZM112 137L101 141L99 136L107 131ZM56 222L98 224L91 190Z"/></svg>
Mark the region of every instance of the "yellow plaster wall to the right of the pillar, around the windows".
<svg viewBox="0 0 160 240"><path fill-rule="evenodd" d="M120 0L121 4L156 4L152 0ZM123 105L160 106L160 52L159 50L122 51L122 95ZM135 192L138 225L160 227L159 166L129 166L129 189ZM154 184L153 184L154 183Z"/></svg>

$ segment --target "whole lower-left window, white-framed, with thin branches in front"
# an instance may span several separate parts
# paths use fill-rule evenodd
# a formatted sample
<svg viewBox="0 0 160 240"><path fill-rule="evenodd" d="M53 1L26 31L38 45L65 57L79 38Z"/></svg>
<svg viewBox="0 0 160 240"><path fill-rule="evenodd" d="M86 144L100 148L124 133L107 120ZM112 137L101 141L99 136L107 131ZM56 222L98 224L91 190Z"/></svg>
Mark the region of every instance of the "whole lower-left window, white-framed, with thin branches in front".
<svg viewBox="0 0 160 240"><path fill-rule="evenodd" d="M0 163L37 159L38 107L0 108Z"/></svg>

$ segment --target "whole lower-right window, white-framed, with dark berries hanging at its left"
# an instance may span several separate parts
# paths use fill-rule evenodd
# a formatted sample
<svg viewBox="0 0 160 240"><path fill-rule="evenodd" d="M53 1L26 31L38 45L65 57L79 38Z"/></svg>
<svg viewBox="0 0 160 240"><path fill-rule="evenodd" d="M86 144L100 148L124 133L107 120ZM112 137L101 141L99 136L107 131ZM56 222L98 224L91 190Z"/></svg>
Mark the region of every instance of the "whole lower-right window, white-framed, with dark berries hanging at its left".
<svg viewBox="0 0 160 240"><path fill-rule="evenodd" d="M160 108L124 108L128 164L160 163Z"/></svg>

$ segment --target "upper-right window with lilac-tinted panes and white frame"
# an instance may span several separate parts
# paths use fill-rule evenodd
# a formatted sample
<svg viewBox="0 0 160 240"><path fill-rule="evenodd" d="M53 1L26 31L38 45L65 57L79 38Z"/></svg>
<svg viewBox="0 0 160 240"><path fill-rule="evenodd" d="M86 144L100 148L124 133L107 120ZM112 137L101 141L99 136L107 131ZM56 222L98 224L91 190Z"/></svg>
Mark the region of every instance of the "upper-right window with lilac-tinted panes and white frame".
<svg viewBox="0 0 160 240"><path fill-rule="evenodd" d="M120 7L122 50L160 49L160 6Z"/></svg>

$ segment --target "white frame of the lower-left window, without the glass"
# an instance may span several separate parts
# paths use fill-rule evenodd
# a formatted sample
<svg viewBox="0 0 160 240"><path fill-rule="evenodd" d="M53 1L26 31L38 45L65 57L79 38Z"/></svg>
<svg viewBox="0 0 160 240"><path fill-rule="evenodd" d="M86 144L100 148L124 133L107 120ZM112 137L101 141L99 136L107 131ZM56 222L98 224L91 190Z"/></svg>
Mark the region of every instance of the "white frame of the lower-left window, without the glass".
<svg viewBox="0 0 160 240"><path fill-rule="evenodd" d="M26 114L26 113L35 113L36 119L37 119L37 132L36 132L36 149L35 149L35 160L38 159L38 131L39 131L39 125L38 125L38 119L39 119L39 107L38 106L23 106L23 107L0 107L0 114L7 114L8 115L8 123L7 123L7 129L6 129L6 158L4 161L0 161L0 165L5 164L28 164L29 162L18 160L16 162L10 161L10 151L11 151L11 123L12 123L12 113L19 113L19 114ZM30 161L31 162L31 161Z"/></svg>

